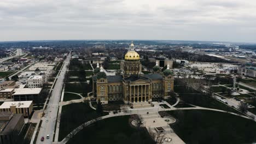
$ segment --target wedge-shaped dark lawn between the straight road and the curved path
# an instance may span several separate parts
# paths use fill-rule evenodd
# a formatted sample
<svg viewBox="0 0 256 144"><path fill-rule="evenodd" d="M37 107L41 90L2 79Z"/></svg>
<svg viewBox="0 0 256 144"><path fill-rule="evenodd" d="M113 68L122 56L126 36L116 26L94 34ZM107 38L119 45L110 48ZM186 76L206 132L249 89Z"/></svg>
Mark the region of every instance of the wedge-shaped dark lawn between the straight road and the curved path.
<svg viewBox="0 0 256 144"><path fill-rule="evenodd" d="M104 113L108 115L108 113ZM62 106L59 141L80 124L100 117L88 103L74 103Z"/></svg>

